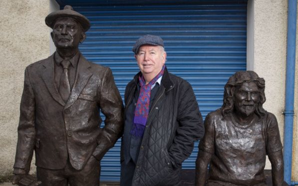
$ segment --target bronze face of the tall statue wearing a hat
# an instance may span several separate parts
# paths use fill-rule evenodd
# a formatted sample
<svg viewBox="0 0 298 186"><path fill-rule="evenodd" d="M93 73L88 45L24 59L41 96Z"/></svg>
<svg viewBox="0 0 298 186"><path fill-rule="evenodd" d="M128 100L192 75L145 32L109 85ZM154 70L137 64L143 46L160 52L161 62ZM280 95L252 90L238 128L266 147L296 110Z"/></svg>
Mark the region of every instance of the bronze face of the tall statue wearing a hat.
<svg viewBox="0 0 298 186"><path fill-rule="evenodd" d="M57 48L77 48L86 36L74 19L58 18L53 26L51 37Z"/></svg>

